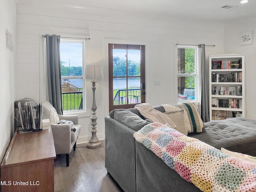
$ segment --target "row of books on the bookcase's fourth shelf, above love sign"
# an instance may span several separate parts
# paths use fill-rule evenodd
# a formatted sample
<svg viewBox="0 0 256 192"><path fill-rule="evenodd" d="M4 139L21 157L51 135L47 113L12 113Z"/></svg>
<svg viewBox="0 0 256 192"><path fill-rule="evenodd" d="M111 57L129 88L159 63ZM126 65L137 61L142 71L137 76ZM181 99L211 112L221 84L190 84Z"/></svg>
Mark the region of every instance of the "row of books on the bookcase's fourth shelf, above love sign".
<svg viewBox="0 0 256 192"><path fill-rule="evenodd" d="M224 107L224 108L242 108L242 99L219 99L212 98L212 107Z"/></svg>

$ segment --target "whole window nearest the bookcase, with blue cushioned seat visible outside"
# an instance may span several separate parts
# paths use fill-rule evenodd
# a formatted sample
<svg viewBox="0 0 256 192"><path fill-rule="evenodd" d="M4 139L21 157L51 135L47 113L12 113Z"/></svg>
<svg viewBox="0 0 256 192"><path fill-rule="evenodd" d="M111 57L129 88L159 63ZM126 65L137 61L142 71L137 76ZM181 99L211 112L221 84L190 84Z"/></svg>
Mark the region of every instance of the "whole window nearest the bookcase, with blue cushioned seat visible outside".
<svg viewBox="0 0 256 192"><path fill-rule="evenodd" d="M178 46L178 101L198 100L198 47Z"/></svg>

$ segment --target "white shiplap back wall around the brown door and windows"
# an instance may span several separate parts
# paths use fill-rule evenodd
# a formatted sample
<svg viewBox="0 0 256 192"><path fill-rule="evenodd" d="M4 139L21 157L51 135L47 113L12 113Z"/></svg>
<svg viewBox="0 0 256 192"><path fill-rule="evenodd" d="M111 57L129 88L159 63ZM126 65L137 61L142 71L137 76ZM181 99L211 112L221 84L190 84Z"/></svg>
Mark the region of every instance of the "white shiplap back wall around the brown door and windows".
<svg viewBox="0 0 256 192"><path fill-rule="evenodd" d="M31 2L32 3L32 2ZM152 15L85 7L76 11L65 4L17 4L17 98L42 100L40 93L40 41L42 34L87 36L87 64L102 64L104 79L96 84L97 135L104 139L104 116L108 115L108 43L146 45L146 102L150 104L175 103L177 88L174 71L174 49L179 44L216 45L206 47L206 55L224 51L222 23L209 21L160 18ZM56 8L58 6L58 8ZM160 86L153 82L160 80ZM88 110L92 90L89 82ZM82 130L78 142L90 139L90 117L80 118Z"/></svg>

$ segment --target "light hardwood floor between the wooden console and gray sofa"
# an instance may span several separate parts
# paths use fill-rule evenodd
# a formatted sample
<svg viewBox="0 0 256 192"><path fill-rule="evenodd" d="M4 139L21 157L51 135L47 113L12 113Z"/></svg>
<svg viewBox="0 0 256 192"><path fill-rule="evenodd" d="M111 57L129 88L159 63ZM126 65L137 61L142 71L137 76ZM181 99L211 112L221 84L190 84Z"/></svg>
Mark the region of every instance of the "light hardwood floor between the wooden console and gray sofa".
<svg viewBox="0 0 256 192"><path fill-rule="evenodd" d="M54 164L55 192L123 192L105 168L105 140L102 147L88 149L78 144L70 153L70 164L66 167L66 156L57 155Z"/></svg>

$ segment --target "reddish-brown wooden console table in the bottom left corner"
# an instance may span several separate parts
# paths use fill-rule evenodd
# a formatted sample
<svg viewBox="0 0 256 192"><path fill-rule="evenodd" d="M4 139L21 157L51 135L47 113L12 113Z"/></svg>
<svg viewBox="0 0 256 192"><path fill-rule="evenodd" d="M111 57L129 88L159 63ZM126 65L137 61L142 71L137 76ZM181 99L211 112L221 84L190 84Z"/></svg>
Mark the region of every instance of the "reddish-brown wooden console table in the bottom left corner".
<svg viewBox="0 0 256 192"><path fill-rule="evenodd" d="M54 159L51 129L15 132L1 163L2 192L54 192Z"/></svg>

